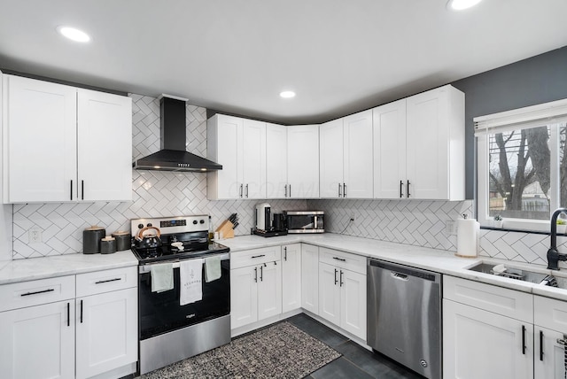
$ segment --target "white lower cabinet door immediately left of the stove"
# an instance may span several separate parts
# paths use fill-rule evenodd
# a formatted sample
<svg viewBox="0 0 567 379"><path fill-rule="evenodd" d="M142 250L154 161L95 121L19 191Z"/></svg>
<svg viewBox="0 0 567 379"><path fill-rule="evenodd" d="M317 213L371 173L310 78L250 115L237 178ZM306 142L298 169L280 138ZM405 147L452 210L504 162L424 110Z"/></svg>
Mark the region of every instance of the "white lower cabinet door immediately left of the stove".
<svg viewBox="0 0 567 379"><path fill-rule="evenodd" d="M136 288L77 298L77 378L136 362L137 309Z"/></svg>

